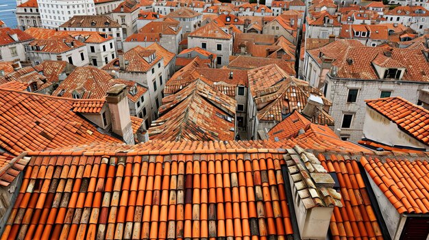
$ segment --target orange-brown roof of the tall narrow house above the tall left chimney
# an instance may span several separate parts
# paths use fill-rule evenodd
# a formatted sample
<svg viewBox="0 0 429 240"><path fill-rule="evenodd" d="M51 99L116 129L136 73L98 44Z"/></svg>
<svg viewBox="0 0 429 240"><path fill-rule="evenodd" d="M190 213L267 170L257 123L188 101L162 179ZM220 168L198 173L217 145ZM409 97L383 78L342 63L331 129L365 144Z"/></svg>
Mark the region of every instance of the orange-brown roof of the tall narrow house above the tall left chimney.
<svg viewBox="0 0 429 240"><path fill-rule="evenodd" d="M144 48L143 46L136 46L133 49L128 50L126 53L123 54L124 61L128 61L128 65L126 66L125 70L129 72L147 72L162 58L162 55L156 53L156 58L151 62L147 62L147 60L144 59L144 56L153 53L156 53L156 51ZM102 69L120 70L119 58L113 59L111 62L106 64L106 66L103 66Z"/></svg>

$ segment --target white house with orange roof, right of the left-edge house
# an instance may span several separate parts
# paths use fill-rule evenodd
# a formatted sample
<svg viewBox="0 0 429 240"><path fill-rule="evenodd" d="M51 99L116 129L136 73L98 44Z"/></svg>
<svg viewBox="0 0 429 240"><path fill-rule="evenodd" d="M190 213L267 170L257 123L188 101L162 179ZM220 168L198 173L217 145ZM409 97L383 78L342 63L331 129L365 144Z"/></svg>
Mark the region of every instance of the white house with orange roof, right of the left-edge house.
<svg viewBox="0 0 429 240"><path fill-rule="evenodd" d="M29 58L34 66L46 60L65 61L75 66L89 64L86 44L70 36L30 42Z"/></svg>

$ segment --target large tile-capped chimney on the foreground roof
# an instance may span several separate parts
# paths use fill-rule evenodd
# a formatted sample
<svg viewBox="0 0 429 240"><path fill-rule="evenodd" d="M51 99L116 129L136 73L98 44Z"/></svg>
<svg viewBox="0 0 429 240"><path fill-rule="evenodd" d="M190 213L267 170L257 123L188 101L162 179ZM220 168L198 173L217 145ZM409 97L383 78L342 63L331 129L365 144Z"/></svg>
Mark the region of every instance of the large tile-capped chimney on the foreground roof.
<svg viewBox="0 0 429 240"><path fill-rule="evenodd" d="M302 133L302 131L299 131ZM335 181L320 161L299 146L284 155L300 239L326 239L334 207L342 207Z"/></svg>

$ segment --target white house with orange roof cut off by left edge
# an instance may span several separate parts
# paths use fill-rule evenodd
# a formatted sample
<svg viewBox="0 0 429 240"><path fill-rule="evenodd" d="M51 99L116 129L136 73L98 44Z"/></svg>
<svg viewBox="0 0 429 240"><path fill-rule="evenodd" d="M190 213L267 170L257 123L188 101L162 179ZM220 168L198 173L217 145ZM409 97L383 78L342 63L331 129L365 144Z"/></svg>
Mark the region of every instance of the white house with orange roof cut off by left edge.
<svg viewBox="0 0 429 240"><path fill-rule="evenodd" d="M26 49L34 38L20 29L0 28L0 62L27 61Z"/></svg>

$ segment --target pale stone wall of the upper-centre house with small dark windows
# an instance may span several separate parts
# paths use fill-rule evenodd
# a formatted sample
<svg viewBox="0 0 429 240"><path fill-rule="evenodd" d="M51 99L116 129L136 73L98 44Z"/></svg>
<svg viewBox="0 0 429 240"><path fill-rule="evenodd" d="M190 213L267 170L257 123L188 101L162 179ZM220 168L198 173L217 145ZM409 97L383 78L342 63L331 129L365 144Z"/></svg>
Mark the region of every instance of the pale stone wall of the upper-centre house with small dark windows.
<svg viewBox="0 0 429 240"><path fill-rule="evenodd" d="M201 47L201 44L206 43L206 50L210 53L215 53L217 57L222 58L222 62L217 61L217 66L227 66L230 63L230 55L232 55L232 38L217 39L217 38L198 38L188 36L188 48ZM217 44L222 44L222 50L217 50Z"/></svg>

